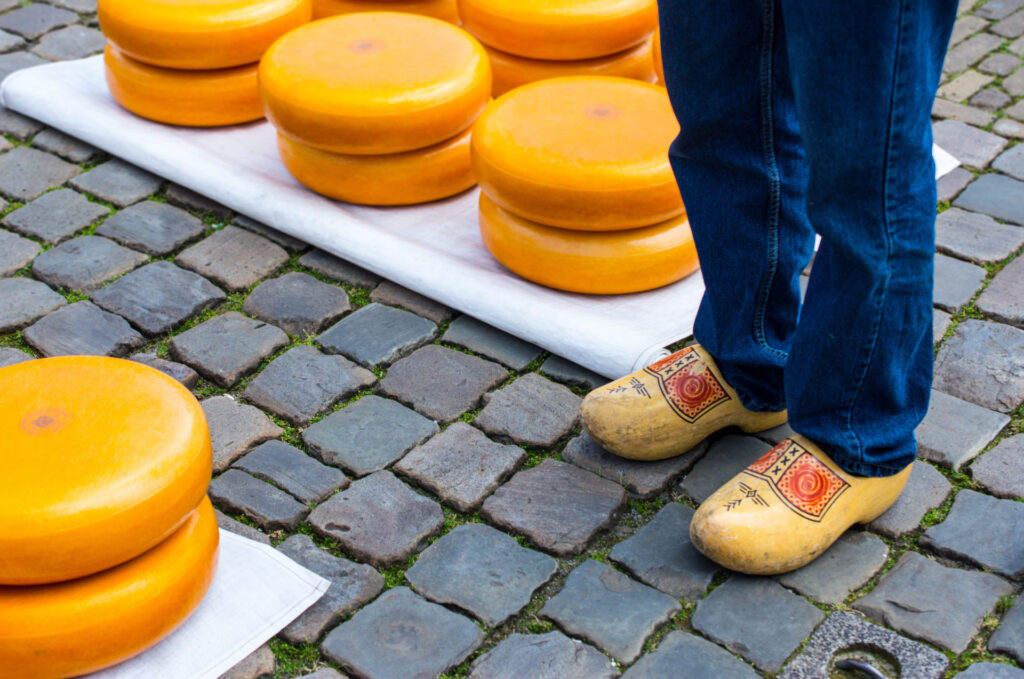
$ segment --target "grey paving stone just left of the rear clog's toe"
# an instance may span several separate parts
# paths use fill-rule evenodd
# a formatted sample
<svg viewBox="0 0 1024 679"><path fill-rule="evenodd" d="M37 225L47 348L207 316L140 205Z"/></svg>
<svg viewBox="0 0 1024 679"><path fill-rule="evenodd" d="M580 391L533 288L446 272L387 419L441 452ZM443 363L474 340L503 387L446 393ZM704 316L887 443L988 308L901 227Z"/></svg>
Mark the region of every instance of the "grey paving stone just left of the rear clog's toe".
<svg viewBox="0 0 1024 679"><path fill-rule="evenodd" d="M535 373L488 394L473 423L493 436L551 448L575 426L582 398Z"/></svg>

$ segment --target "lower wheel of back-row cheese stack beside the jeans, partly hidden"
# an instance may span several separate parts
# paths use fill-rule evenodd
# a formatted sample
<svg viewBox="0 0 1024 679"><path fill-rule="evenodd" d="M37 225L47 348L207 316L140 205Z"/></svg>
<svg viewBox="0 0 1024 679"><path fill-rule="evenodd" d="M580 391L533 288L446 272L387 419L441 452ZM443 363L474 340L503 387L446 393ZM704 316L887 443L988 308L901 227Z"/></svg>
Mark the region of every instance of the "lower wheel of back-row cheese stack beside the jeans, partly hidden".
<svg viewBox="0 0 1024 679"><path fill-rule="evenodd" d="M490 57L490 70L494 73L492 94L494 96L500 96L516 87L539 80L564 76L615 76L648 83L654 82L657 78L654 73L650 40L645 40L636 47L611 56L571 61L528 59L524 56L500 52L486 45L483 48L487 50L487 56Z"/></svg>

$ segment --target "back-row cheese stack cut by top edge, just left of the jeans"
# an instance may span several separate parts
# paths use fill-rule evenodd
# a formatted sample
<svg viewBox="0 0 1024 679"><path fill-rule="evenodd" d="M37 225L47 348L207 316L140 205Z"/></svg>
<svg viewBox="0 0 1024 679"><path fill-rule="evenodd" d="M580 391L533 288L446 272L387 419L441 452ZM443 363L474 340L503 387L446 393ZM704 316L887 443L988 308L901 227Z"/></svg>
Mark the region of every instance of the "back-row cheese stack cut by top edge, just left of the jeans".
<svg viewBox="0 0 1024 679"><path fill-rule="evenodd" d="M656 77L655 0L459 0L459 13L490 55L495 96L562 76Z"/></svg>

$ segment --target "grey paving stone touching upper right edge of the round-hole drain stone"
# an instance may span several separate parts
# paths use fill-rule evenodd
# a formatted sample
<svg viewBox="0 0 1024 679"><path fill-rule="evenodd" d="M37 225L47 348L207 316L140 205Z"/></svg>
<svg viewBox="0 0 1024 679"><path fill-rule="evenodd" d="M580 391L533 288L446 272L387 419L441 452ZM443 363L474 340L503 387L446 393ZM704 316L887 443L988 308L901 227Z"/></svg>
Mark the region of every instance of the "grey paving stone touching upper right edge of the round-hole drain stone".
<svg viewBox="0 0 1024 679"><path fill-rule="evenodd" d="M998 576L947 568L906 552L853 607L898 632L958 653L999 597L1011 592L1013 586Z"/></svg>

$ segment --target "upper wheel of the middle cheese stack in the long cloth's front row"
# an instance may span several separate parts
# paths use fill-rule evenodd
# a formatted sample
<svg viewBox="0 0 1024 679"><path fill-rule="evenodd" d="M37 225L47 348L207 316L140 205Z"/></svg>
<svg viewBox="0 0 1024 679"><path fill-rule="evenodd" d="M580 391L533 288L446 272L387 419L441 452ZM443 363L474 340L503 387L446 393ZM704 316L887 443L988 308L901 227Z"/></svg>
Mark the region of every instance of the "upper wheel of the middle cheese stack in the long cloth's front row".
<svg viewBox="0 0 1024 679"><path fill-rule="evenodd" d="M337 154L432 146L468 128L490 97L490 62L472 36L399 12L293 31L267 50L259 78L278 131Z"/></svg>

